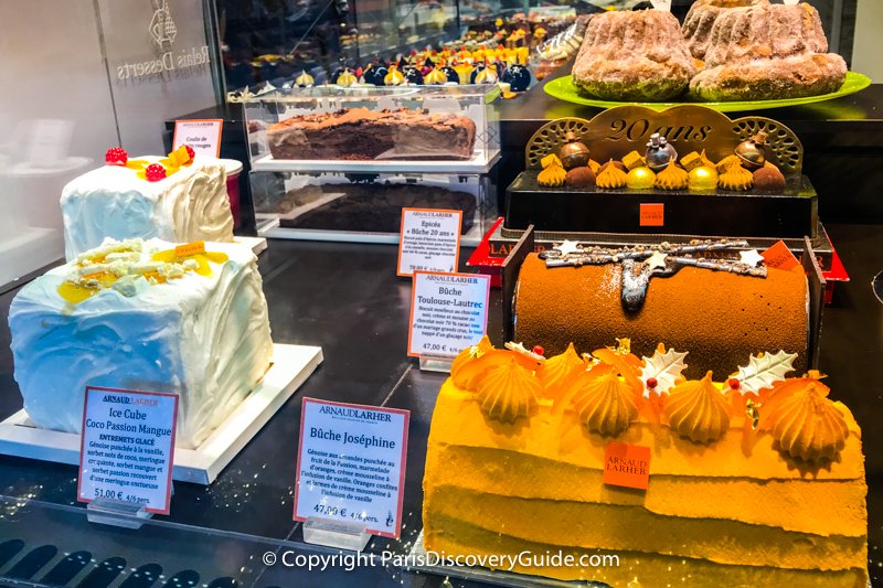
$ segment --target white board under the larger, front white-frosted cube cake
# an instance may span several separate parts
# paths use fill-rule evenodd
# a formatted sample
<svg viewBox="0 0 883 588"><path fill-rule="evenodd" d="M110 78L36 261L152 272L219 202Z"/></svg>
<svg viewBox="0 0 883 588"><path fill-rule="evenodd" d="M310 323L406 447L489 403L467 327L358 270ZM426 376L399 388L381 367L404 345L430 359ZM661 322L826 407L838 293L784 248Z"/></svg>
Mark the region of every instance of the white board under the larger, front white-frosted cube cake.
<svg viewBox="0 0 883 588"><path fill-rule="evenodd" d="M322 349L273 345L264 379L196 449L175 448L172 480L211 484L245 445L322 363ZM79 463L79 435L34 427L23 409L0 423L0 455Z"/></svg>

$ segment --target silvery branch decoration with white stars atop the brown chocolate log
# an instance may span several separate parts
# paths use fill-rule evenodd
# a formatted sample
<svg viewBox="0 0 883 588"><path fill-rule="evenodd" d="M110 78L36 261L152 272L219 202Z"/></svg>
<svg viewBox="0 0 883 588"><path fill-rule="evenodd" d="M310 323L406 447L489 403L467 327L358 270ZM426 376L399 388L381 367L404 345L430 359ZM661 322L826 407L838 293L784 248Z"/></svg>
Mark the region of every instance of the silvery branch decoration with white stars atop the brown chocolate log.
<svg viewBox="0 0 883 588"><path fill-rule="evenodd" d="M743 239L691 240L678 245L663 242L659 245L638 245L635 247L605 248L583 247L577 242L565 240L552 249L540 254L546 267L579 267L584 265L621 264L623 279L620 300L628 312L637 312L647 298L647 288L653 277L675 274L682 267L699 267L715 271L728 271L740 276L765 278L766 266L736 259L693 257L709 252L737 252L748 246ZM742 258L748 258L742 256Z"/></svg>

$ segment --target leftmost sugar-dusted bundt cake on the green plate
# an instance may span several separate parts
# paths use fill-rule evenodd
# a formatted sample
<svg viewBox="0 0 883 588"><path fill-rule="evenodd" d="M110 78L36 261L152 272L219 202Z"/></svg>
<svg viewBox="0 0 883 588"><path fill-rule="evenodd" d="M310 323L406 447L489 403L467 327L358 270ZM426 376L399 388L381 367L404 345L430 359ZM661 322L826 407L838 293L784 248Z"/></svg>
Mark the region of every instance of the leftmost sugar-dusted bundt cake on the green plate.
<svg viewBox="0 0 883 588"><path fill-rule="evenodd" d="M573 82L608 100L659 101L683 94L696 64L671 12L605 12L588 23Z"/></svg>

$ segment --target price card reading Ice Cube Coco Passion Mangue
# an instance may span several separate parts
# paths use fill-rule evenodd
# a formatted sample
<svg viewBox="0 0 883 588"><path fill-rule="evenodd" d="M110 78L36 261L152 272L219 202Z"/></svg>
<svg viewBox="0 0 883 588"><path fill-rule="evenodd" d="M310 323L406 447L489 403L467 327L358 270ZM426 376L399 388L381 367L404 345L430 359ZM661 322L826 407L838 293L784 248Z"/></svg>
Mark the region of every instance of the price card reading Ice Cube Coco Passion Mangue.
<svg viewBox="0 0 883 588"><path fill-rule="evenodd" d="M177 394L87 387L77 500L169 514L177 424Z"/></svg>

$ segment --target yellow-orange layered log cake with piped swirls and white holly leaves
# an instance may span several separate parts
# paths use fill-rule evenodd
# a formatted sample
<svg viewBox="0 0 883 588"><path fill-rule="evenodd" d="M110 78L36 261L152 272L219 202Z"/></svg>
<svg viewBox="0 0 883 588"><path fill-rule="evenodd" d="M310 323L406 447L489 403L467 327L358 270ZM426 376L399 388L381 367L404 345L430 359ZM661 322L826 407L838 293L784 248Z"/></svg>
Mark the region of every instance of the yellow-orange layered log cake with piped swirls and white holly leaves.
<svg viewBox="0 0 883 588"><path fill-rule="evenodd" d="M683 353L628 348L544 359L486 342L458 357L429 432L426 549L615 554L514 566L611 586L864 588L861 430L819 375L748 394L756 382L684 377ZM603 483L610 442L649 448L646 491Z"/></svg>

